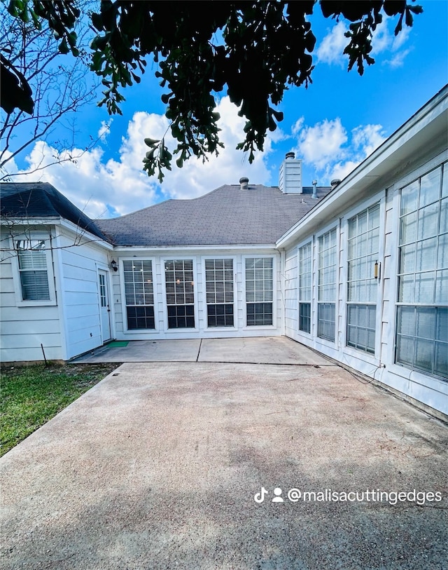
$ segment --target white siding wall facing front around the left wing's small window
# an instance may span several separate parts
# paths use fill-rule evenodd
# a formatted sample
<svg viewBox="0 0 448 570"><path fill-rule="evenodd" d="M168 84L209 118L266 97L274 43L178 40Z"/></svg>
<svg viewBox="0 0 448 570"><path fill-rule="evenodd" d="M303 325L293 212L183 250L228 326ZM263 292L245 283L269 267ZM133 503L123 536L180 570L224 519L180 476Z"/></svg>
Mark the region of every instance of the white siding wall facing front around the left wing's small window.
<svg viewBox="0 0 448 570"><path fill-rule="evenodd" d="M54 227L40 227L38 231L24 228L30 238L46 238ZM14 227L14 236L20 236L22 228ZM8 243L10 253L0 264L0 360L16 362L43 360L43 351L47 360L62 360L61 323L55 290L55 255L47 252L47 271L50 285L50 301L22 301L17 255L13 251L13 238L3 233L2 243ZM43 351L42 347L43 346Z"/></svg>

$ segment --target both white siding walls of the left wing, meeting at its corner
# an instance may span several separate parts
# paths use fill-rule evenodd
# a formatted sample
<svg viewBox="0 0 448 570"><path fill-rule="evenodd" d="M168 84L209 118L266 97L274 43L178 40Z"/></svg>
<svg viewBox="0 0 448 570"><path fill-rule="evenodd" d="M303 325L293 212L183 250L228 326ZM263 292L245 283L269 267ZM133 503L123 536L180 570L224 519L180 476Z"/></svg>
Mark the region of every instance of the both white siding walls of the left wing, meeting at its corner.
<svg viewBox="0 0 448 570"><path fill-rule="evenodd" d="M0 265L1 362L40 361L44 353L47 360L69 360L102 345L98 269L109 271L108 246L62 226L33 228L24 235L48 240L50 301L22 301L17 256L6 255ZM20 232L14 227L15 236Z"/></svg>

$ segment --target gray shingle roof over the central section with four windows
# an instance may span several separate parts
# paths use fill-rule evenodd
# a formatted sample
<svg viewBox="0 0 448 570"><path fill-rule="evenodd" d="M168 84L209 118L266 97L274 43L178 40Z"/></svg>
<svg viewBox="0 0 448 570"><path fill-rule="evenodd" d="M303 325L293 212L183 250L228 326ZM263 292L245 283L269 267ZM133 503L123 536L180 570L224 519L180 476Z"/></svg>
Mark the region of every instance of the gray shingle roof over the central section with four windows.
<svg viewBox="0 0 448 570"><path fill-rule="evenodd" d="M330 188L312 187L303 194L278 188L239 185L220 188L193 200L168 200L97 226L115 245L270 244L326 196Z"/></svg>

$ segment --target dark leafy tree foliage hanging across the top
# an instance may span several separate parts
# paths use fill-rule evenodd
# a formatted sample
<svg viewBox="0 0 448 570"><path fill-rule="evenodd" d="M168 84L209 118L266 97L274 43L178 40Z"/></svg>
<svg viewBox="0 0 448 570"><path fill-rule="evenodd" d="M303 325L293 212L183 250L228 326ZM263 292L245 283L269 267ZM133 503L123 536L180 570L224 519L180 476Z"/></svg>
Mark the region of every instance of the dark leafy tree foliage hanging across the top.
<svg viewBox="0 0 448 570"><path fill-rule="evenodd" d="M192 155L205 159L218 153L223 145L215 95L222 92L246 118L238 148L248 151L252 162L267 131L275 130L283 118L276 106L285 90L311 83L316 37L309 20L316 7L325 18L351 22L344 53L349 70L356 67L359 74L374 63L372 32L384 15L395 16L396 35L403 21L412 26L413 14L422 12L421 6L406 0L104 0L99 11L89 15L96 34L90 69L104 85L99 104L110 114L121 114L123 89L141 81L151 56L177 146L171 153L165 137L146 139L148 174L157 170L161 180L163 169L171 169L172 154L179 155L176 163L182 166ZM72 28L80 15L71 0L11 0L9 11L32 18L36 25L47 20L59 49L76 55ZM3 88L1 95L3 99Z"/></svg>

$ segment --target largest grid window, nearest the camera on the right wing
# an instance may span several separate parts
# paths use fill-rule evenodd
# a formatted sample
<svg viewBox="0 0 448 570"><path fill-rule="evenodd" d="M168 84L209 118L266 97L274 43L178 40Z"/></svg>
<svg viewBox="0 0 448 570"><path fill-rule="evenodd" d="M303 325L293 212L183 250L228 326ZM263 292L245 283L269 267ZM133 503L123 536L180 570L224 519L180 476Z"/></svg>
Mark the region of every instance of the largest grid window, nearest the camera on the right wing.
<svg viewBox="0 0 448 570"><path fill-rule="evenodd" d="M448 163L401 191L395 361L448 379Z"/></svg>

